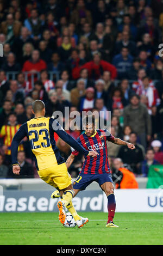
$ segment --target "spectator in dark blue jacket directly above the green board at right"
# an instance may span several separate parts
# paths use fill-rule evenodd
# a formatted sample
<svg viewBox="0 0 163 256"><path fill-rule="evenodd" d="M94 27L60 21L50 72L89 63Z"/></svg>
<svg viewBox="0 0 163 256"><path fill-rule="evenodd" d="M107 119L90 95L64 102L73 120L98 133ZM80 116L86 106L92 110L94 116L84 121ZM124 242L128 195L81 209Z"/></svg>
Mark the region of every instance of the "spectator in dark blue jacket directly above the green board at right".
<svg viewBox="0 0 163 256"><path fill-rule="evenodd" d="M153 149L147 149L147 153L146 153L146 159L142 162L142 176L143 177L147 177L148 176L148 172L149 172L149 167L152 164L160 164L158 161L155 160L154 157L154 150Z"/></svg>

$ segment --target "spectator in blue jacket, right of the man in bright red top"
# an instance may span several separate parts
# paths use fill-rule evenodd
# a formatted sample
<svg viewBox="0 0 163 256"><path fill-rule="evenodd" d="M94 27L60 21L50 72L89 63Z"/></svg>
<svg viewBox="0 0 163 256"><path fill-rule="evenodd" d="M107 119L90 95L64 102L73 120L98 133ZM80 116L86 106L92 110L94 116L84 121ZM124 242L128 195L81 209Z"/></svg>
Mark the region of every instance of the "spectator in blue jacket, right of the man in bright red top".
<svg viewBox="0 0 163 256"><path fill-rule="evenodd" d="M112 64L116 66L118 72L118 78L126 78L127 72L133 63L133 56L129 54L128 47L122 47L121 53L117 54L113 60Z"/></svg>

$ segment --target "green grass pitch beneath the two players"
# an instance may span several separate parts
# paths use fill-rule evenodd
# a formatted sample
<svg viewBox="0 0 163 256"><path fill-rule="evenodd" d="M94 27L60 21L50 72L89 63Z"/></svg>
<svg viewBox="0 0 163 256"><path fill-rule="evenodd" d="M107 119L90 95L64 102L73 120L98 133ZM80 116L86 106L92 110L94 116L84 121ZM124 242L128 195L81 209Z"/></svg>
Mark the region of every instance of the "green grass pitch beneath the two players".
<svg viewBox="0 0 163 256"><path fill-rule="evenodd" d="M105 228L104 212L80 212L89 218L83 228L65 228L58 213L1 213L0 245L162 245L161 213L120 213L120 228Z"/></svg>

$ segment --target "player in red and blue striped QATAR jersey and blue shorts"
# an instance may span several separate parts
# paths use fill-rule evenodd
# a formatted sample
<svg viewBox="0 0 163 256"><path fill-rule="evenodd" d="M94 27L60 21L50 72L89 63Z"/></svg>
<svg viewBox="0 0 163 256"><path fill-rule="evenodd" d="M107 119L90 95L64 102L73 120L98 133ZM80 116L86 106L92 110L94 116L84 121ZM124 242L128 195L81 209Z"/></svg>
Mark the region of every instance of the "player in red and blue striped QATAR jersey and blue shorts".
<svg viewBox="0 0 163 256"><path fill-rule="evenodd" d="M76 196L80 190L85 190L85 188L93 181L98 182L108 198L108 222L106 223L106 227L118 227L112 221L115 215L116 201L114 196L114 184L109 168L106 141L118 145L127 145L129 149L135 149L135 146L131 143L122 141L120 138L115 138L108 130L96 130L94 118L89 117L88 115L85 117L83 126L85 132L78 137L77 141L83 145L86 150L97 151L98 155L96 157L85 156L82 171L73 183L74 196ZM79 152L74 150L68 157L66 161L67 168L71 166L74 157L78 154ZM55 191L53 195L55 197L57 191Z"/></svg>

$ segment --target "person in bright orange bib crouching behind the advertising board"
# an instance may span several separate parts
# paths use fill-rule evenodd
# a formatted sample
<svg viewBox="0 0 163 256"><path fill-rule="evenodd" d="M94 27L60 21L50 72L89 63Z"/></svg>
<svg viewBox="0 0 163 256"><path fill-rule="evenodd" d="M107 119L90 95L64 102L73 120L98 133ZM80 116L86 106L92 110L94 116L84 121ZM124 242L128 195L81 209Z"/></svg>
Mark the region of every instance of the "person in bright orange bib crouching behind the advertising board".
<svg viewBox="0 0 163 256"><path fill-rule="evenodd" d="M114 159L113 166L112 180L116 188L139 188L135 175L129 169L124 167L122 159Z"/></svg>

